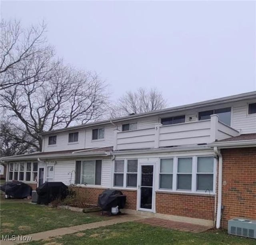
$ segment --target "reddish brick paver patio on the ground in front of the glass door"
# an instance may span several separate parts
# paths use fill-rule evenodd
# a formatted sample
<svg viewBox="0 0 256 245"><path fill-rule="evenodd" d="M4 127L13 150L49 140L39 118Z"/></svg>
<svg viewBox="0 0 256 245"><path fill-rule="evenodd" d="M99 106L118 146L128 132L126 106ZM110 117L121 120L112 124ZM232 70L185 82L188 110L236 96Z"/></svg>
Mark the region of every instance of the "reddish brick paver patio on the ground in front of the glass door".
<svg viewBox="0 0 256 245"><path fill-rule="evenodd" d="M148 224L148 225L165 227L169 229L175 229L179 231L202 232L212 228L210 226L196 225L191 223L184 223L184 222L172 221L168 219L160 219L155 217L140 219L137 222Z"/></svg>

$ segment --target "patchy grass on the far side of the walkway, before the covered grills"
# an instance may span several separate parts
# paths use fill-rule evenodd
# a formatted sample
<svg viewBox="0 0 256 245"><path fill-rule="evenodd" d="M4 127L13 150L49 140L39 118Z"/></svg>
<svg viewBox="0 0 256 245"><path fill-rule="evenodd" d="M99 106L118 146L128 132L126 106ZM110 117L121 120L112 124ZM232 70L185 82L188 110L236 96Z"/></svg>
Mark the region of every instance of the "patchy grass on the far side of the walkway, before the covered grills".
<svg viewBox="0 0 256 245"><path fill-rule="evenodd" d="M30 203L1 203L2 235L26 235L60 227L108 219L98 213L80 213Z"/></svg>

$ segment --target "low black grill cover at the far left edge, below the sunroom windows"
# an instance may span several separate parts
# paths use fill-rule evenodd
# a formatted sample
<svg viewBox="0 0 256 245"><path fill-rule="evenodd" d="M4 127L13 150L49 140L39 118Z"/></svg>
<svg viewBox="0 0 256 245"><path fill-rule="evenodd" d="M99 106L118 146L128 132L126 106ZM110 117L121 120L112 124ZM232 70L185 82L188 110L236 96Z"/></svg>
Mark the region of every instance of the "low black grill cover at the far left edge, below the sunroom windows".
<svg viewBox="0 0 256 245"><path fill-rule="evenodd" d="M0 186L0 189L4 191L6 195L10 195L14 198L25 198L31 196L32 193L32 188L21 181L5 182Z"/></svg>

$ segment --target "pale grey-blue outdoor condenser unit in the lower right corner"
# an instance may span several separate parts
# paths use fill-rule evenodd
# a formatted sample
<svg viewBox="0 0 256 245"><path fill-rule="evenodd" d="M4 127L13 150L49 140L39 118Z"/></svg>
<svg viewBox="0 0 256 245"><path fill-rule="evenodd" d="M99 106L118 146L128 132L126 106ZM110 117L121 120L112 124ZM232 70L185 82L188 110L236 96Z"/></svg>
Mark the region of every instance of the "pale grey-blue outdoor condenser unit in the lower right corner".
<svg viewBox="0 0 256 245"><path fill-rule="evenodd" d="M234 218L228 221L228 234L256 239L256 220Z"/></svg>

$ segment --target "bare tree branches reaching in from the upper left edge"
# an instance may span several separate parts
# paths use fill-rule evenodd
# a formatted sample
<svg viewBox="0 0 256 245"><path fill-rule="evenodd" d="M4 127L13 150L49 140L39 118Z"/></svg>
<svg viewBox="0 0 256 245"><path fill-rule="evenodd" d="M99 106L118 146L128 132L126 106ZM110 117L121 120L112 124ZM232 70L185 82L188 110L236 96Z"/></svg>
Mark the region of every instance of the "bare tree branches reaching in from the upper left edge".
<svg viewBox="0 0 256 245"><path fill-rule="evenodd" d="M20 22L4 20L0 23L0 89L15 85L37 82L47 76L54 57L54 48L49 46L44 36L46 25L22 28Z"/></svg>

